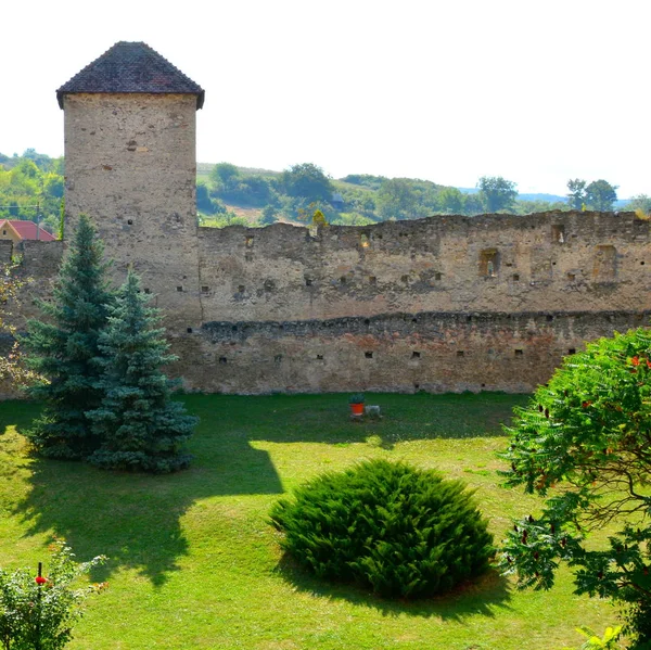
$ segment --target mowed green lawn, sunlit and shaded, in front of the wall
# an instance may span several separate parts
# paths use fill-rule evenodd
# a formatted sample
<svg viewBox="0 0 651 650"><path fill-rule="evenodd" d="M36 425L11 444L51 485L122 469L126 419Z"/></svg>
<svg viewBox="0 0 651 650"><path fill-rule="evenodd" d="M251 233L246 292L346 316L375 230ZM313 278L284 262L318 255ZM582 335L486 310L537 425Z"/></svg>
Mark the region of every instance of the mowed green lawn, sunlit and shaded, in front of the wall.
<svg viewBox="0 0 651 650"><path fill-rule="evenodd" d="M352 422L345 395L191 395L201 417L192 468L168 476L110 473L33 458L20 435L38 408L0 404L0 565L47 559L53 535L79 560L103 553L72 650L554 650L578 625L602 630L616 611L573 595L516 591L492 573L433 600L390 602L333 586L282 557L270 506L324 471L366 458L437 468L476 488L500 539L540 502L500 487L500 423L524 396L370 395L379 421ZM46 565L47 571L47 565Z"/></svg>

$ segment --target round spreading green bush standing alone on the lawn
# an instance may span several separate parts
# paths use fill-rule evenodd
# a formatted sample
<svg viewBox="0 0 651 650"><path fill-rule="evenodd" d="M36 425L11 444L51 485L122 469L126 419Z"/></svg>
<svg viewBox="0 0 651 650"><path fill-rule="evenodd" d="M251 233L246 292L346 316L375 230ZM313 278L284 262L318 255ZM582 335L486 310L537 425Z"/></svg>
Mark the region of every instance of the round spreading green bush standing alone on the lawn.
<svg viewBox="0 0 651 650"><path fill-rule="evenodd" d="M472 494L436 471L371 460L298 487L270 519L282 548L317 576L422 598L488 569L493 535Z"/></svg>

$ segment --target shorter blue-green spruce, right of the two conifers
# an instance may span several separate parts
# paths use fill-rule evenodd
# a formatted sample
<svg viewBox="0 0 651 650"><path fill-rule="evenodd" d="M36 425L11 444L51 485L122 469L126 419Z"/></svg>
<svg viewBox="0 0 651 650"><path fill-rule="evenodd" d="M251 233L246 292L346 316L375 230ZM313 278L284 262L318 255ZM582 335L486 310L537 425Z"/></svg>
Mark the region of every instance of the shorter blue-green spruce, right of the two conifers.
<svg viewBox="0 0 651 650"><path fill-rule="evenodd" d="M197 418L171 399L175 382L161 370L168 355L158 309L148 307L138 276L129 271L100 335L104 355L101 407L87 413L101 447L89 458L105 469L171 472L187 467L183 450Z"/></svg>

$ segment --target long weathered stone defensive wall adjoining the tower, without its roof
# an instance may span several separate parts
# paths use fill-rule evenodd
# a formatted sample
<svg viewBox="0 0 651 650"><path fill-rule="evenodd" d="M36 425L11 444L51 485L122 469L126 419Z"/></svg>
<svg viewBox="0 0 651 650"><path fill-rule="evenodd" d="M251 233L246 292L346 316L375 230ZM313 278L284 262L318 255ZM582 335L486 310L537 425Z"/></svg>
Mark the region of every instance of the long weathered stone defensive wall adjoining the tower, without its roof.
<svg viewBox="0 0 651 650"><path fill-rule="evenodd" d="M585 341L648 323L649 226L634 213L442 216L199 228L192 244L190 227L177 242L149 225L125 229L118 250L164 309L189 388L526 392ZM178 284L139 246L154 270L168 258ZM22 253L28 292L49 299L62 243Z"/></svg>

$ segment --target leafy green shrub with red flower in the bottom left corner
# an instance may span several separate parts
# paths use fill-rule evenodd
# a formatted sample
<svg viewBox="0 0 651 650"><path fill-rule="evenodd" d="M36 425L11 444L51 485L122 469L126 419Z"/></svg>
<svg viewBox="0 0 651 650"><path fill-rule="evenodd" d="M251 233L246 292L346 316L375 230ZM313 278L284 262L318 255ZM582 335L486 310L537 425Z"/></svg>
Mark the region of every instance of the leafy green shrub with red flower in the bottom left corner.
<svg viewBox="0 0 651 650"><path fill-rule="evenodd" d="M72 626L82 604L104 585L73 585L105 558L78 563L62 540L52 545L49 574L35 579L34 571L0 569L0 643L3 650L60 650L72 639Z"/></svg>

